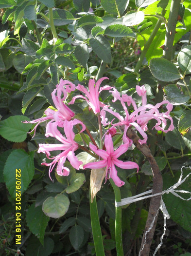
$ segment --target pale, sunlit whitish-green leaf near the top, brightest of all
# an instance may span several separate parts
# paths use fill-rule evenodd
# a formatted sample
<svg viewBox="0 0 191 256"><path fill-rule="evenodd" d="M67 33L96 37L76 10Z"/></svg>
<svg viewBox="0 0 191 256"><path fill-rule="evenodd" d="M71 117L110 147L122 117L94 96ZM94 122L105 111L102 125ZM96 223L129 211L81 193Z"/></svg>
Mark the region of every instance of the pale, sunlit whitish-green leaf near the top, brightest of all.
<svg viewBox="0 0 191 256"><path fill-rule="evenodd" d="M125 26L134 26L134 25L138 25L143 20L144 20L144 13L142 11L133 12L133 13L128 12L123 17L122 24Z"/></svg>

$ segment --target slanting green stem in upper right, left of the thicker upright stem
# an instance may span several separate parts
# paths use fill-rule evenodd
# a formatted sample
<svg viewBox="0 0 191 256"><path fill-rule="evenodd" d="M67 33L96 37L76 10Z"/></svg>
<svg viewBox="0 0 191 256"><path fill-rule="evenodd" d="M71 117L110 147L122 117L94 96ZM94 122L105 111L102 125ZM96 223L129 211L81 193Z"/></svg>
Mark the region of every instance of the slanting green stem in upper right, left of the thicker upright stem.
<svg viewBox="0 0 191 256"><path fill-rule="evenodd" d="M161 16L164 16L165 13L166 13L166 11L163 10L161 12ZM155 38L156 33L157 33L158 29L161 26L161 23L162 23L162 21L160 19L157 20L156 25L155 25L152 33L151 33L151 36L149 37L148 41L145 43L144 49L142 50L142 52L140 54L140 57L139 57L139 60L137 62L137 65L135 67L134 73L138 73L139 72L139 69L140 69L140 67L142 65L143 59L145 58L145 55L146 55L146 53L147 53L147 51L148 51L148 49L149 49L153 39Z"/></svg>

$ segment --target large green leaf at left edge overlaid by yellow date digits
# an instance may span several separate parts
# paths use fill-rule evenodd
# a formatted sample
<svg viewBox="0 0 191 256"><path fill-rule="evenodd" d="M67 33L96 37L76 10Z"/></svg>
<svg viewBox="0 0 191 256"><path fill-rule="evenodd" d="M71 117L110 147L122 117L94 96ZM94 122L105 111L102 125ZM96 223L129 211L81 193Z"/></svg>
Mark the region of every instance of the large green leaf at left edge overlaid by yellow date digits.
<svg viewBox="0 0 191 256"><path fill-rule="evenodd" d="M17 193L22 194L28 188L34 174L34 152L28 154L22 149L13 150L8 156L3 170L4 181L10 196L15 198L16 190ZM16 187L16 184L20 187Z"/></svg>

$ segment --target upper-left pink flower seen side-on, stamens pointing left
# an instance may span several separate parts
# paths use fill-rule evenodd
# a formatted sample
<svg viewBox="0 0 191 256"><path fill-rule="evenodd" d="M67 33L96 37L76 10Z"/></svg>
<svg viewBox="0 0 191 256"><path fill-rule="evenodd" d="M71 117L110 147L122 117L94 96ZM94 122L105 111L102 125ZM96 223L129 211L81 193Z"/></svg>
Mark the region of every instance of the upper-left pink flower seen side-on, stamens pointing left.
<svg viewBox="0 0 191 256"><path fill-rule="evenodd" d="M74 116L74 113L69 109L69 107L63 101L67 98L68 93L75 90L75 87L76 87L75 84L71 83L70 81L60 79L60 83L56 85L56 89L54 89L51 94L52 100L54 102L56 109L51 106L45 110L44 112L46 115L45 117L38 118L33 121L23 121L23 123L37 123L31 132L36 131L37 126L41 122L44 122L47 120L56 121L57 125L59 127L62 127L64 120L66 119L71 120L71 118L73 118ZM56 96L56 93L57 93L57 96ZM63 97L62 97L62 94L63 94Z"/></svg>

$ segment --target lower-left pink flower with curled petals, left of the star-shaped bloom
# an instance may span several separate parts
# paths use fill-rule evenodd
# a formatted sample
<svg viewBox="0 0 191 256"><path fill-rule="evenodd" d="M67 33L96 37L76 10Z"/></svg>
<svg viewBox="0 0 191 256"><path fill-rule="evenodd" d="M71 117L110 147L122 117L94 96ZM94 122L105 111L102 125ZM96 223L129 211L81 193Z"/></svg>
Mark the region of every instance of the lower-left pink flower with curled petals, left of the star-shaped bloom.
<svg viewBox="0 0 191 256"><path fill-rule="evenodd" d="M39 144L38 153L42 152L45 153L47 158L53 159L51 163L43 162L42 165L50 166L49 168L49 176L57 163L56 172L60 176L68 176L69 175L69 168L64 167L64 163L68 158L70 164L77 170L79 170L79 166L82 164L82 161L79 161L78 158L75 156L74 151L78 149L78 144L74 141L75 134L73 132L73 126L75 124L82 125L82 131L86 129L85 125L77 120L70 120L67 119L63 122L63 128L66 135L66 138L58 131L57 123L50 121L47 124L46 129L46 137L54 137L61 142L61 144ZM50 157L50 152L55 150L61 150L62 152L55 156ZM51 176L50 176L51 178Z"/></svg>

